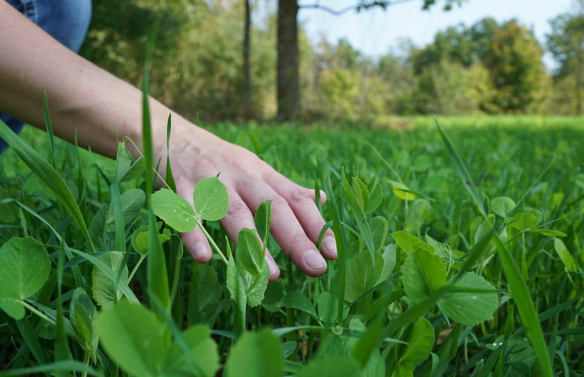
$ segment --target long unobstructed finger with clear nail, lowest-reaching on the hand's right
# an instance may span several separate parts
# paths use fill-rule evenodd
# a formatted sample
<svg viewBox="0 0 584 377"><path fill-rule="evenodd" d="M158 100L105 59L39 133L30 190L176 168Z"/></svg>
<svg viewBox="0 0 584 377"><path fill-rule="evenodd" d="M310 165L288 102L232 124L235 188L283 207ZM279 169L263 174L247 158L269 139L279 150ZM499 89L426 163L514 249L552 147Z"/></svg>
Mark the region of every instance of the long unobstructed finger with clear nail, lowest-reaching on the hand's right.
<svg viewBox="0 0 584 377"><path fill-rule="evenodd" d="M262 201L272 201L272 224L270 231L292 262L309 276L320 276L327 269L321 253L307 237L286 200L269 185L258 183L238 187L241 199L248 208L257 208ZM318 235L317 235L318 239Z"/></svg>

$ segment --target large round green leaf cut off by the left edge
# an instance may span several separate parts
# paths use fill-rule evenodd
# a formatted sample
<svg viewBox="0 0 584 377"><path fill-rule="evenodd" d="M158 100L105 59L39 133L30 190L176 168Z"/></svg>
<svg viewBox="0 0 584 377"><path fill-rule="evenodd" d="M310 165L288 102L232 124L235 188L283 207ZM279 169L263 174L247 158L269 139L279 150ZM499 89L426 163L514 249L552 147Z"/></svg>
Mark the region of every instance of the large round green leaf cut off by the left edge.
<svg viewBox="0 0 584 377"><path fill-rule="evenodd" d="M49 278L51 262L44 247L32 237L12 237L0 247L0 308L21 319L20 301L35 294Z"/></svg>

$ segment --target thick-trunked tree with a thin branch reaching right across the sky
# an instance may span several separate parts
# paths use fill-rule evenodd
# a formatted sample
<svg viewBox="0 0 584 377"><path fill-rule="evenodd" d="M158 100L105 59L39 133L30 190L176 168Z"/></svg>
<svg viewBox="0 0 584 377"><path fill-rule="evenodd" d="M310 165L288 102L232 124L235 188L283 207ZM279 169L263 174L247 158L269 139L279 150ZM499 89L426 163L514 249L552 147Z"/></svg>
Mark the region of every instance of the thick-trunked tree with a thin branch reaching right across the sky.
<svg viewBox="0 0 584 377"><path fill-rule="evenodd" d="M409 0L405 0L409 1ZM452 8L454 3L460 4L463 0L444 0L445 10ZM400 1L403 2L403 1ZM435 5L437 0L424 0L423 9L427 10ZM321 9L340 15L350 10L360 12L370 8L386 9L396 1L389 0L358 0L353 6L341 10L334 10L320 3L298 5L298 0L278 0L278 31L277 31L277 103L278 119L295 119L300 113L300 77L298 58L298 11L300 9Z"/></svg>

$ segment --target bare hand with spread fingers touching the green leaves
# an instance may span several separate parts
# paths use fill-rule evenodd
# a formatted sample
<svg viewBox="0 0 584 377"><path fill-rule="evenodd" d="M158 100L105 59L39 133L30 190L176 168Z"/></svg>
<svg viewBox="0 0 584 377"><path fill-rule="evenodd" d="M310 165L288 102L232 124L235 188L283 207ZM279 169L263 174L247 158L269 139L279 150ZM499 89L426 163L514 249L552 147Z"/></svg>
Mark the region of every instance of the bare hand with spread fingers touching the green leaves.
<svg viewBox="0 0 584 377"><path fill-rule="evenodd" d="M325 221L314 203L314 190L289 181L247 149L195 130L200 129L186 126L173 131L170 138L170 162L177 193L193 206L195 183L219 174L229 195L229 210L221 223L234 241L242 228L255 227L253 213L259 204L271 200L270 232L275 240L305 274L324 274L327 265L323 256L336 259L336 243L328 229L323 237L322 254L315 246ZM325 200L325 193L321 192L321 201ZM183 240L197 262L211 259L211 246L200 228L183 233ZM270 281L275 280L279 269L269 251L266 260Z"/></svg>

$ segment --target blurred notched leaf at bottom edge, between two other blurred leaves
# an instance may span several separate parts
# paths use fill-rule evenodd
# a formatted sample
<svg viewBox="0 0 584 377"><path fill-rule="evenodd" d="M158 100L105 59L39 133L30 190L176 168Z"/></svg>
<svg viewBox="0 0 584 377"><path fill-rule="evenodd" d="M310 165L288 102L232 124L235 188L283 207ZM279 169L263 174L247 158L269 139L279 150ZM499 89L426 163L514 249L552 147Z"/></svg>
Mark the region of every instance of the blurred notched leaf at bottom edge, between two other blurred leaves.
<svg viewBox="0 0 584 377"><path fill-rule="evenodd" d="M171 344L163 376L215 376L219 369L219 354L209 327L196 325L185 330L181 336L191 352L190 357L185 355L177 342Z"/></svg>

